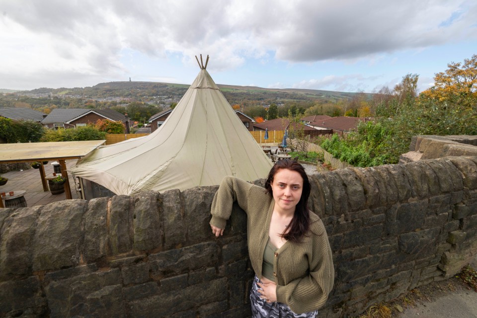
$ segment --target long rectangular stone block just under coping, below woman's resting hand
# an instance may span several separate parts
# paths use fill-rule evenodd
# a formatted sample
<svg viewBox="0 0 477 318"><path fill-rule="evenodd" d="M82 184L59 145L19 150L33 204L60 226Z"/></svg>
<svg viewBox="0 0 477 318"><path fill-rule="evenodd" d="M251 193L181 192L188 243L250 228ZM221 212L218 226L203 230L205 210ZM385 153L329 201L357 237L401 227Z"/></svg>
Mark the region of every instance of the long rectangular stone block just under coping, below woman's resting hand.
<svg viewBox="0 0 477 318"><path fill-rule="evenodd" d="M218 255L218 246L215 242L204 242L151 254L149 261L153 275L162 276L167 273L214 266Z"/></svg>

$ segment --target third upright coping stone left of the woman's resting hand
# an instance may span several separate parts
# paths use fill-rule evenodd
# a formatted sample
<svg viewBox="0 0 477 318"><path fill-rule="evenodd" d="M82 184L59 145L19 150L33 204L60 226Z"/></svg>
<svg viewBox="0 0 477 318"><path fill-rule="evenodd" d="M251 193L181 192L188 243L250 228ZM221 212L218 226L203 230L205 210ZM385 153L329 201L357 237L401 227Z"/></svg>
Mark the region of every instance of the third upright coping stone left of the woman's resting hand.
<svg viewBox="0 0 477 318"><path fill-rule="evenodd" d="M149 250L160 247L162 229L158 212L158 193L140 193L134 199L134 249Z"/></svg>

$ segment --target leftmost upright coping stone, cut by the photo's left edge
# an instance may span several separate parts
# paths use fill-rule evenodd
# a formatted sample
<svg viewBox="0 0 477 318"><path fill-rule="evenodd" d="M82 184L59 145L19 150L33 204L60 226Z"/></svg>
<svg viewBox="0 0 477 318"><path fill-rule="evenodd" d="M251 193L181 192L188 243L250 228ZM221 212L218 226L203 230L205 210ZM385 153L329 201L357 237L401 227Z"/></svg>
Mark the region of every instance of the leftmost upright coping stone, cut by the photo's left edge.
<svg viewBox="0 0 477 318"><path fill-rule="evenodd" d="M0 278L30 276L33 240L41 207L19 209L4 219L0 236Z"/></svg>

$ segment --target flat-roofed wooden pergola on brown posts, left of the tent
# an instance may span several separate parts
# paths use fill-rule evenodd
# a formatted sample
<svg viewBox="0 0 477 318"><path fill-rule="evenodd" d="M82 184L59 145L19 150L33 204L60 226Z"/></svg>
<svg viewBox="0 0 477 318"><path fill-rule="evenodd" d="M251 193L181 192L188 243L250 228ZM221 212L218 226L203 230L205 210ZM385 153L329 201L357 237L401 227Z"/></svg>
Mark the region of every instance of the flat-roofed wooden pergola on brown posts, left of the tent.
<svg viewBox="0 0 477 318"><path fill-rule="evenodd" d="M72 199L65 160L84 157L105 142L105 140L88 140L51 143L0 144L0 163L40 162L41 166L39 170L43 191L49 191L48 185L46 184L45 168L43 167L42 161L57 160L61 166L61 175L67 179L67 182L65 182L64 185L66 198ZM2 200L0 200L0 208L3 208Z"/></svg>

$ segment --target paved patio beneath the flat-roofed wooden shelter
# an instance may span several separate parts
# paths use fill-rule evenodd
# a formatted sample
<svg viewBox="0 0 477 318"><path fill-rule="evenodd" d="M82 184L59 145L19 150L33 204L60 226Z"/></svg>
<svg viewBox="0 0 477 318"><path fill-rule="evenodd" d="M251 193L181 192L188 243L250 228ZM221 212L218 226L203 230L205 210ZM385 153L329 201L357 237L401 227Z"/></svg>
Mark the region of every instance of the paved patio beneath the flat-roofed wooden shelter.
<svg viewBox="0 0 477 318"><path fill-rule="evenodd" d="M75 165L77 159L74 160L66 160L67 169L71 166ZM51 162L45 164L45 175L47 177L53 177L53 166ZM40 178L40 169L27 169L23 171L10 171L1 174L3 177L8 178L8 182L5 185L0 185L0 192L8 192L10 191L20 191L25 190L25 200L27 206L35 206L35 205L46 205L48 203L61 201L66 199L66 194L51 194L48 190L46 192L43 191L43 186L41 184ZM71 187L71 195L73 199L78 199L81 196L77 191L77 186L75 185L75 180L73 176L69 174L69 181ZM4 202L3 202L4 203Z"/></svg>

